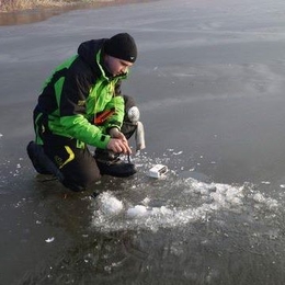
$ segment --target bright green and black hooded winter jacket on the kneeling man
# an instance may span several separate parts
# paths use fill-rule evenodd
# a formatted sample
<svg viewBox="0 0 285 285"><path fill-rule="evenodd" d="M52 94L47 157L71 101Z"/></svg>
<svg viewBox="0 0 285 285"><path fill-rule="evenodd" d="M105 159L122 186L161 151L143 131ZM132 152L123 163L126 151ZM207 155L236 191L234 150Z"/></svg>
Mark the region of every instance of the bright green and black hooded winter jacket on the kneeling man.
<svg viewBox="0 0 285 285"><path fill-rule="evenodd" d="M82 43L78 55L58 66L45 82L34 112L37 144L64 137L76 139L79 147L106 148L111 139L107 130L121 128L121 79L127 75L112 78L102 65L105 41ZM113 110L113 115L103 125L95 125L96 115L105 110Z"/></svg>

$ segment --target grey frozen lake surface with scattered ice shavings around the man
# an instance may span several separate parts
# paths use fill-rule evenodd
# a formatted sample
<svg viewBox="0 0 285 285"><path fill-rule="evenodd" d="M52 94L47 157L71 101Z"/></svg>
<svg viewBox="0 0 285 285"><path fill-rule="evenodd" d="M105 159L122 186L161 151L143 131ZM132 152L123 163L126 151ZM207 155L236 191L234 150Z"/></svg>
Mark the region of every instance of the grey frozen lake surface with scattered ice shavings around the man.
<svg viewBox="0 0 285 285"><path fill-rule="evenodd" d="M0 284L284 284L284 11L161 0L1 26ZM32 111L81 42L118 32L147 149L135 176L71 193L32 169Z"/></svg>

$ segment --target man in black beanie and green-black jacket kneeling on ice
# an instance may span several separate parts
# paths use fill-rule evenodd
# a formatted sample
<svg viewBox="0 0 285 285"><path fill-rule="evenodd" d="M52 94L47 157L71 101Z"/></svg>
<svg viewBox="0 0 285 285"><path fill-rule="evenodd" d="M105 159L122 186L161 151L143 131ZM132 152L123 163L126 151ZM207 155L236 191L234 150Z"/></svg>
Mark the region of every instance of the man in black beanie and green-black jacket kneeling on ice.
<svg viewBox="0 0 285 285"><path fill-rule="evenodd" d="M136 58L134 38L121 33L82 43L55 69L38 96L36 137L27 145L38 173L56 175L72 191L86 190L103 174L136 173L130 161L119 159L130 155L127 140L142 128L134 99L121 92ZM94 155L87 145L96 148Z"/></svg>

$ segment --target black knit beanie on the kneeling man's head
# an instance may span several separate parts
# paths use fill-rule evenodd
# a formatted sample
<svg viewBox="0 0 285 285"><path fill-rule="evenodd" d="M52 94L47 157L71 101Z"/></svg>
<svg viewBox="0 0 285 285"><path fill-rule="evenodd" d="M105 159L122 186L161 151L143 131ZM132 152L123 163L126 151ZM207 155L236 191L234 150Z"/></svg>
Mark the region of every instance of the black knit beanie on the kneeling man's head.
<svg viewBox="0 0 285 285"><path fill-rule="evenodd" d="M127 33L121 33L109 38L104 44L107 55L135 62L137 59L137 46L135 39Z"/></svg>

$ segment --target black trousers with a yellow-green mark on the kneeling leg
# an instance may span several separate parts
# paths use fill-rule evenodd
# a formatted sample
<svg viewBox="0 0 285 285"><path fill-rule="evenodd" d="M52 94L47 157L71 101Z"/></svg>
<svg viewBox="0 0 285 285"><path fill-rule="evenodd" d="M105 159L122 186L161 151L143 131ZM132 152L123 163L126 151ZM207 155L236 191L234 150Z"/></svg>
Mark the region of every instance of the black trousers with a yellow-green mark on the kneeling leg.
<svg viewBox="0 0 285 285"><path fill-rule="evenodd" d="M128 139L137 127L127 117L127 111L135 105L135 102L130 96L124 96L124 100L126 114L122 133ZM87 146L79 148L76 139L67 139L53 135L48 136L49 139L45 139L45 136L43 136L44 151L64 174L62 184L66 187L73 191L83 191L101 178L96 161Z"/></svg>

